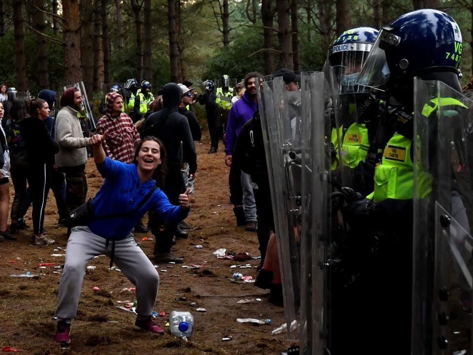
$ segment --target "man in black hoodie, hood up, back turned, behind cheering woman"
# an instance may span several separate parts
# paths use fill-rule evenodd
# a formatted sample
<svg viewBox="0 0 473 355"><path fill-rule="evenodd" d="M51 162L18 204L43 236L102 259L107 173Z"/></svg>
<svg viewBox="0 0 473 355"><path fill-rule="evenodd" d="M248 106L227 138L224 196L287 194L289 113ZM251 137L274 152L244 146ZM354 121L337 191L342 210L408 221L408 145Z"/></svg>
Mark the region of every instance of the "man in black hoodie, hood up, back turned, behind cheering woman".
<svg viewBox="0 0 473 355"><path fill-rule="evenodd" d="M197 170L197 155L189 122L177 111L181 100L181 88L175 83L166 84L163 87L163 108L149 115L141 135L142 137L155 136L166 147L168 172L163 192L173 205L178 205L179 194L185 191L181 174L182 162L185 161L189 164L189 174L195 175ZM157 220L157 216L150 216L150 218L154 219L151 232L156 239L156 263L170 261L182 263L184 259L170 253L177 225L165 225L162 221Z"/></svg>

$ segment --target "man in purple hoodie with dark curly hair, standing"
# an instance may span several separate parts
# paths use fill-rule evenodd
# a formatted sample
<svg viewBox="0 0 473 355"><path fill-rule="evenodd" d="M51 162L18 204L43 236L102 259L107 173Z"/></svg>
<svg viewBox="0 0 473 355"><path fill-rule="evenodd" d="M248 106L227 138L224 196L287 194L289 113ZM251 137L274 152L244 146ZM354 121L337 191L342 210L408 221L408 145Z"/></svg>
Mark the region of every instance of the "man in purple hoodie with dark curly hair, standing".
<svg viewBox="0 0 473 355"><path fill-rule="evenodd" d="M225 164L230 167L230 200L235 206L233 211L236 216L236 225L246 224L246 230L249 231L256 231L256 204L253 188L257 188L257 185L251 181L248 174L241 171L240 167L232 165L232 154L241 127L253 118L258 107L256 85L259 84L260 78L261 74L257 71L246 74L244 80L246 91L230 109L224 138Z"/></svg>

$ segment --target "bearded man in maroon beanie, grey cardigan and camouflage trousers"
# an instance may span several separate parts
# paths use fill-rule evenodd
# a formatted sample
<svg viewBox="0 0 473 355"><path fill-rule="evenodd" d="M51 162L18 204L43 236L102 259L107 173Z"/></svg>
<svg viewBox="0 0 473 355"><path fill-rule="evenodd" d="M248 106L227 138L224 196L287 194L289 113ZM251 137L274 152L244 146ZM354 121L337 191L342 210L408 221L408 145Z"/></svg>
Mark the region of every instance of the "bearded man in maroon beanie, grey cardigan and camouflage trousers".
<svg viewBox="0 0 473 355"><path fill-rule="evenodd" d="M79 89L70 87L64 91L55 123L56 142L59 152L55 156L56 166L66 175L66 208L70 213L85 202L87 179L85 164L89 137L84 138L79 118L82 95Z"/></svg>

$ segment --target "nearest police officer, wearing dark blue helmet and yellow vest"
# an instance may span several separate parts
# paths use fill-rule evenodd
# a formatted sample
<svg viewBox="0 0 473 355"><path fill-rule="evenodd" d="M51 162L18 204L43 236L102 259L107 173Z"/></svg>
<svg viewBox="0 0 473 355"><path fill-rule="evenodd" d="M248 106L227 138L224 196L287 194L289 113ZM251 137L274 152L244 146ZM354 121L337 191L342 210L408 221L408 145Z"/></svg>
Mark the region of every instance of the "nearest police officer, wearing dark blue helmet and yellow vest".
<svg viewBox="0 0 473 355"><path fill-rule="evenodd" d="M348 202L342 209L343 218L355 232L352 235L358 237L356 244L369 246L371 256L360 263L355 280L347 283L342 302L334 305L334 355L353 349L378 354L381 348L385 354L410 353L413 82L414 77L439 80L461 91L459 60L445 55L455 53L461 43L458 31L455 20L441 11L422 9L400 16L381 30L357 78L358 84L368 87L385 85L386 100L397 116L397 126L375 168L372 194L365 198L351 188L341 189ZM461 107L459 102L446 102L453 109ZM417 193L429 192L426 189ZM389 315L380 311L386 307ZM359 319L366 327L356 326ZM364 339L367 334L369 341ZM390 344L389 349L386 344Z"/></svg>

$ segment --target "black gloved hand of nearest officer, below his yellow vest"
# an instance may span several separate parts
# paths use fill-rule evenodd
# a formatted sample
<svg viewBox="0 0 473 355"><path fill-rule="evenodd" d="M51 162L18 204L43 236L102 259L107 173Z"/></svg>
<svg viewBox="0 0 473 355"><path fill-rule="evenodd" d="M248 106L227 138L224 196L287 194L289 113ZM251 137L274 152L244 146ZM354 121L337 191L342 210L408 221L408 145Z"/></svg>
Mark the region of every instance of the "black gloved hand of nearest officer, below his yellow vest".
<svg viewBox="0 0 473 355"><path fill-rule="evenodd" d="M354 198L361 196L355 193ZM343 219L352 228L368 228L376 224L376 209L378 204L367 198L360 198L353 200L350 204L341 209Z"/></svg>

